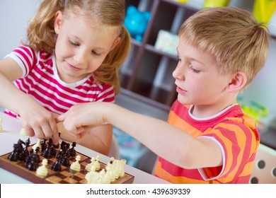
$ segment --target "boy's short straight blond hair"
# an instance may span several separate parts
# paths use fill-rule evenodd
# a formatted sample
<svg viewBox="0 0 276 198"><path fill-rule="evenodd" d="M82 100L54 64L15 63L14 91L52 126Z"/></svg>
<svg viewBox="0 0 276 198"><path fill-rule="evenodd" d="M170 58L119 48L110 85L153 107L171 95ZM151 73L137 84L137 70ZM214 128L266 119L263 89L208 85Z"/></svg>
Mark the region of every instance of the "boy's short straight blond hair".
<svg viewBox="0 0 276 198"><path fill-rule="evenodd" d="M220 74L244 72L246 86L268 56L270 36L265 24L241 8L204 8L183 23L179 35L190 45L212 54Z"/></svg>

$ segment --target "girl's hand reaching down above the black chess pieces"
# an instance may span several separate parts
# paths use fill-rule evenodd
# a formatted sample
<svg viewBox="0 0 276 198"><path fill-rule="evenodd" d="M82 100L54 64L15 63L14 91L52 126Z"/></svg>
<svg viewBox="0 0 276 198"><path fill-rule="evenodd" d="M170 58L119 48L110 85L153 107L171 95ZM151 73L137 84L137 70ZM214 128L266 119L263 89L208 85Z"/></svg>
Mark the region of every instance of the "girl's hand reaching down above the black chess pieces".
<svg viewBox="0 0 276 198"><path fill-rule="evenodd" d="M57 123L52 112L45 110L38 103L32 103L32 105L24 105L19 115L28 136L35 135L38 139L52 138L54 144L59 142Z"/></svg>

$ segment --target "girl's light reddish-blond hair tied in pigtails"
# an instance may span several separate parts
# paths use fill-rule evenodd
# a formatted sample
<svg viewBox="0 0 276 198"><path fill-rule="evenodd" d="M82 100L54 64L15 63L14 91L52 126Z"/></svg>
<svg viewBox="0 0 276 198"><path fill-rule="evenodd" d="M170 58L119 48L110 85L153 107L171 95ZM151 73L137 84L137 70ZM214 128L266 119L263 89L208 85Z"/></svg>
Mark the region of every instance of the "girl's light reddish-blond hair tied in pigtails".
<svg viewBox="0 0 276 198"><path fill-rule="evenodd" d="M27 29L28 46L54 52L57 35L54 32L54 17L57 11L65 15L74 12L91 16L103 27L118 28L120 43L110 52L103 64L94 72L96 81L113 85L115 94L120 91L119 69L130 50L130 34L123 26L125 0L42 0L38 11ZM27 44L26 44L27 45Z"/></svg>

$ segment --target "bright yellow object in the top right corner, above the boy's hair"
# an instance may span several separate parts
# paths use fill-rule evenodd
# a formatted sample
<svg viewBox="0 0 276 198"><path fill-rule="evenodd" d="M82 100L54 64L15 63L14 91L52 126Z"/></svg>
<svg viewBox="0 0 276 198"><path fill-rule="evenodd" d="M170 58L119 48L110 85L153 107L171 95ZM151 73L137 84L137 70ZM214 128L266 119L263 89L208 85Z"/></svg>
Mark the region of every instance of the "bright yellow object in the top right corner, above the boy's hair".
<svg viewBox="0 0 276 198"><path fill-rule="evenodd" d="M255 0L253 14L258 22L268 23L276 8L276 0Z"/></svg>

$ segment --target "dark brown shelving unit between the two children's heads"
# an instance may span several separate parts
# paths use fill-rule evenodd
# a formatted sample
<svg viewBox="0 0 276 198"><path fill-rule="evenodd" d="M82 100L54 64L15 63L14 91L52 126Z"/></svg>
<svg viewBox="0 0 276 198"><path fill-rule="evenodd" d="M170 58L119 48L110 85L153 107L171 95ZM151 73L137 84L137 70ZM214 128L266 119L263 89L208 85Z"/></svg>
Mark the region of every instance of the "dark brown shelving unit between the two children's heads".
<svg viewBox="0 0 276 198"><path fill-rule="evenodd" d="M183 21L197 9L173 0L129 0L126 4L150 11L151 19L142 42L132 39L129 57L120 70L122 94L139 95L145 103L169 110L176 100L172 73L178 57L156 50L154 45L159 30L178 34Z"/></svg>

